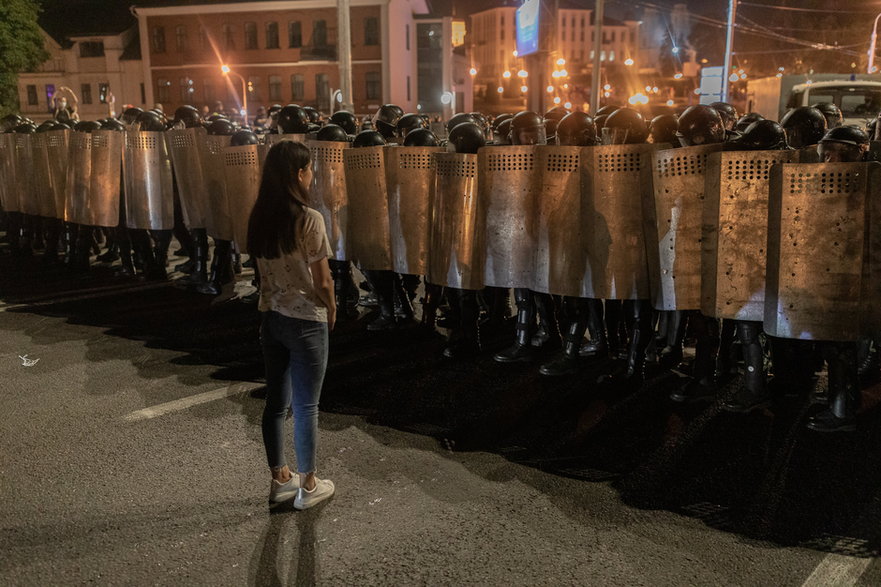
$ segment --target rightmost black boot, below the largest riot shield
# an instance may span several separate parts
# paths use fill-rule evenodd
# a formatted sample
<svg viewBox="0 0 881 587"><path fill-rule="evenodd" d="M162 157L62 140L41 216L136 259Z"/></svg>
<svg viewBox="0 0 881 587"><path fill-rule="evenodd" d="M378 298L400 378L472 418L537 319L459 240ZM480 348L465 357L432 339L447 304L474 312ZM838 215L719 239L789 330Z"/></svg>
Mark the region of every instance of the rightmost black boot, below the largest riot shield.
<svg viewBox="0 0 881 587"><path fill-rule="evenodd" d="M811 430L856 431L856 417L861 400L856 354L855 343L823 343L823 355L829 374L829 408L808 420L807 427Z"/></svg>

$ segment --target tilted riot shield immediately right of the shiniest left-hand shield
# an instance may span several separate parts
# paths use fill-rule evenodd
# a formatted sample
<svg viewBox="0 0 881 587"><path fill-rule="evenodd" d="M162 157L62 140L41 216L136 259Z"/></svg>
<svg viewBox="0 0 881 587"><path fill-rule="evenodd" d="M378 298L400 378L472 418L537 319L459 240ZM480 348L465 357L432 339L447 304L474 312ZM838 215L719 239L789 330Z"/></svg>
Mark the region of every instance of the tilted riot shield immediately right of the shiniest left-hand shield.
<svg viewBox="0 0 881 587"><path fill-rule="evenodd" d="M190 229L205 228L210 207L201 155L207 132L204 128L185 128L166 134L184 224Z"/></svg>

